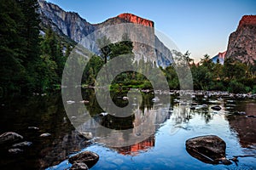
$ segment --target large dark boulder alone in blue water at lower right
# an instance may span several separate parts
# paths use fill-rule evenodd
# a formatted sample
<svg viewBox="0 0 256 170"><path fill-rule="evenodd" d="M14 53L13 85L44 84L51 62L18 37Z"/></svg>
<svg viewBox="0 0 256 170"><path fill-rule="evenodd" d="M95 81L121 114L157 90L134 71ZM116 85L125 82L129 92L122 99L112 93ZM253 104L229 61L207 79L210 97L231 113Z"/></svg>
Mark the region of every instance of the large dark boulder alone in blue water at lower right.
<svg viewBox="0 0 256 170"><path fill-rule="evenodd" d="M225 157L226 143L215 135L200 136L186 141L191 156L206 163L218 163Z"/></svg>

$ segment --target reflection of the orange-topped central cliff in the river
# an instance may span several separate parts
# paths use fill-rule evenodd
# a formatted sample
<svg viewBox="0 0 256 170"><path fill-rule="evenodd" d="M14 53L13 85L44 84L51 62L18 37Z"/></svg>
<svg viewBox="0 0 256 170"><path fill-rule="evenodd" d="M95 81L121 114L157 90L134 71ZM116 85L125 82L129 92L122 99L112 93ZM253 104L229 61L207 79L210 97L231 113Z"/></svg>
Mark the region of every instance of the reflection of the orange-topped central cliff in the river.
<svg viewBox="0 0 256 170"><path fill-rule="evenodd" d="M192 118L191 114L193 113L191 113L188 104L153 103L152 98L154 96L152 94L146 94L143 97L143 104L134 105L131 116L125 118L110 114L101 116L101 110L92 109L100 108L96 100L91 100L93 105L91 103L87 105L87 110L90 113L85 115L90 114L93 119L87 119L86 122L77 127L77 130L81 133L90 133L94 141L106 144L109 148L117 150L119 154L137 156L139 153L154 147L154 134L164 122L171 119L172 133L176 133L183 123L188 123L189 119ZM124 101L120 99L119 104L122 102ZM130 105L132 104L130 103ZM206 119L207 122L209 117L207 116Z"/></svg>

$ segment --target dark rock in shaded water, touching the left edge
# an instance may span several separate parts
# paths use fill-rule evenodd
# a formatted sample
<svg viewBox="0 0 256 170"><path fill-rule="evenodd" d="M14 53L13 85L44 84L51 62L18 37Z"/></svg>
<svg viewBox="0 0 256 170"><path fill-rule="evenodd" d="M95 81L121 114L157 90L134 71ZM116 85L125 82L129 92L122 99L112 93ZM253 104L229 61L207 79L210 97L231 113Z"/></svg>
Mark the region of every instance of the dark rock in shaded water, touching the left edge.
<svg viewBox="0 0 256 170"><path fill-rule="evenodd" d="M23 139L18 133L8 132L0 135L0 144L13 144Z"/></svg>

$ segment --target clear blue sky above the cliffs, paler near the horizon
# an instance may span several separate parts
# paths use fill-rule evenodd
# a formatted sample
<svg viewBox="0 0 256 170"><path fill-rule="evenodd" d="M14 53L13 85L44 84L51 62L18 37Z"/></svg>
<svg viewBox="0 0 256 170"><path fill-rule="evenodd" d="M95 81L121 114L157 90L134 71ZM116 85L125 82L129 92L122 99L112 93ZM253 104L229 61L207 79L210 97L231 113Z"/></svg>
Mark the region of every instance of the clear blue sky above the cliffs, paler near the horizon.
<svg viewBox="0 0 256 170"><path fill-rule="evenodd" d="M49 0L74 11L92 24L121 13L137 14L154 21L181 52L189 50L198 61L227 48L230 33L236 31L244 14L256 14L255 0Z"/></svg>

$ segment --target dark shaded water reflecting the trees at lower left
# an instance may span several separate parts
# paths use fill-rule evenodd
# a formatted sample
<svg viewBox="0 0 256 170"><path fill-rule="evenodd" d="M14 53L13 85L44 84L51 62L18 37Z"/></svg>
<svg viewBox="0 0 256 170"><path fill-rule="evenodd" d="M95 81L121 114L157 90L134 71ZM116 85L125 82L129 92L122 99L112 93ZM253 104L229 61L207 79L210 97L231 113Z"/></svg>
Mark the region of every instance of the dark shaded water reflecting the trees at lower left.
<svg viewBox="0 0 256 170"><path fill-rule="evenodd" d="M88 145L84 139L79 138L67 119L59 95L4 99L1 100L1 113L1 133L20 133L26 141L32 142L20 155L9 156L0 150L1 169L49 167ZM41 133L51 135L40 138Z"/></svg>

